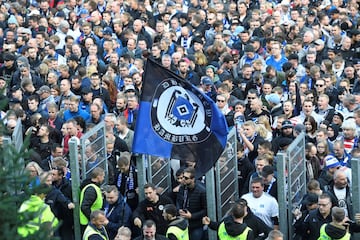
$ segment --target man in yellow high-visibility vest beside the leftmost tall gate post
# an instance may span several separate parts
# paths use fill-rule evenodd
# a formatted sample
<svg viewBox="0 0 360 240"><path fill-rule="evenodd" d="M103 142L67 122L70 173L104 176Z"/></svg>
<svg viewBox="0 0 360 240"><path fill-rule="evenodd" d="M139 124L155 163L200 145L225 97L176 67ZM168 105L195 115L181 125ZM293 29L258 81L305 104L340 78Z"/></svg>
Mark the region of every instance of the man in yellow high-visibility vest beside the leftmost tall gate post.
<svg viewBox="0 0 360 240"><path fill-rule="evenodd" d="M82 232L84 232L86 225L89 223L91 212L100 210L103 206L100 184L104 181L104 177L104 169L96 167L90 173L90 179L86 179L81 184L80 224Z"/></svg>

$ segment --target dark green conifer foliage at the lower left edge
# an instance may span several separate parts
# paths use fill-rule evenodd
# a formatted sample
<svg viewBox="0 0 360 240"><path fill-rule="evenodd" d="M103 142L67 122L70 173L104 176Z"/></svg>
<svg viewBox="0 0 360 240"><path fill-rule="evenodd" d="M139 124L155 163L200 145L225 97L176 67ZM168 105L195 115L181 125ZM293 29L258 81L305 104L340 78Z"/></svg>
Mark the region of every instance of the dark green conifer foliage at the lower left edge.
<svg viewBox="0 0 360 240"><path fill-rule="evenodd" d="M31 181L29 174L24 171L24 160L29 156L29 139L23 146L14 146L10 138L4 137L4 125L0 125L0 239L17 240L25 239L17 233L19 226L23 226L34 219L39 213L20 214L18 210L21 204L30 198L31 194L38 189L30 189ZM55 239L52 230L48 226L41 226L36 234L27 236L27 240Z"/></svg>

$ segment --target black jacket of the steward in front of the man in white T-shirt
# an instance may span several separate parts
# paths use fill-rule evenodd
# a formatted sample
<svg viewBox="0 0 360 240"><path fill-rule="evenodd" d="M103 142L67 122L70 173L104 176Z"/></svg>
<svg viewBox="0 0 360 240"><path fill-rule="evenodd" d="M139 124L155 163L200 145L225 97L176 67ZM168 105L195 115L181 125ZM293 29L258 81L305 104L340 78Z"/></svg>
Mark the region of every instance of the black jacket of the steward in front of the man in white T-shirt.
<svg viewBox="0 0 360 240"><path fill-rule="evenodd" d="M245 231L246 227L248 226L246 223L235 222L232 216L226 217L223 222L225 224L226 232L231 237L236 237L236 236L242 234ZM220 224L221 223L210 222L209 228L213 229L213 230L218 230ZM253 239L255 239L254 233L252 230L250 230L247 235L246 240L253 240Z"/></svg>

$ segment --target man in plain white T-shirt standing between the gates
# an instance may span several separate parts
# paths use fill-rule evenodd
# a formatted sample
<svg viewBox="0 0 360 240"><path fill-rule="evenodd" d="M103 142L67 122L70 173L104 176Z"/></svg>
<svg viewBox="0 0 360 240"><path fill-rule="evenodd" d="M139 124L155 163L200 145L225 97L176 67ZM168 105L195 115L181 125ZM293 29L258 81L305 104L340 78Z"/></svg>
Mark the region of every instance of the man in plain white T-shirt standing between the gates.
<svg viewBox="0 0 360 240"><path fill-rule="evenodd" d="M251 192L244 194L241 198L247 201L251 211L264 221L268 227L278 229L279 205L276 199L264 192L264 182L262 178L252 179L250 186Z"/></svg>

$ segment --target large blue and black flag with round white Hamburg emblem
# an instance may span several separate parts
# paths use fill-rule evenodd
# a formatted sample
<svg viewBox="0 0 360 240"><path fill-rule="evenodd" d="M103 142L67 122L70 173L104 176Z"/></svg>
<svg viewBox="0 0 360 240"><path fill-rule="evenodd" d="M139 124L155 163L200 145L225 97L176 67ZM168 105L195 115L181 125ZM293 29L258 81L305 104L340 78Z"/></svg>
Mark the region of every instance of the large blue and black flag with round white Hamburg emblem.
<svg viewBox="0 0 360 240"><path fill-rule="evenodd" d="M197 176L218 160L228 127L216 104L190 82L147 60L134 153L196 162Z"/></svg>

